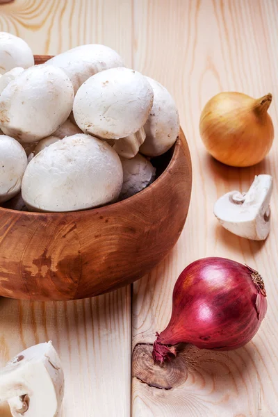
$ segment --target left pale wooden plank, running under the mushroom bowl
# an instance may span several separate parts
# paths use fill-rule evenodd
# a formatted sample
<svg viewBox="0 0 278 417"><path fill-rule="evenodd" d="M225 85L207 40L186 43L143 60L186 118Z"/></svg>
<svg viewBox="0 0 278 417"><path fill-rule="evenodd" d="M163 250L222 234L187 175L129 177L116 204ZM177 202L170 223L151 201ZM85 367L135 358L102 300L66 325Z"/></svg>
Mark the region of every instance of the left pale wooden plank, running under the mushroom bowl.
<svg viewBox="0 0 278 417"><path fill-rule="evenodd" d="M0 31L21 36L35 54L103 43L131 65L131 9L127 0L16 0L0 6ZM2 298L0 310L0 366L51 339L65 370L63 416L130 415L130 287L78 302Z"/></svg>

